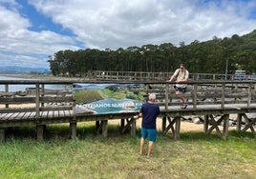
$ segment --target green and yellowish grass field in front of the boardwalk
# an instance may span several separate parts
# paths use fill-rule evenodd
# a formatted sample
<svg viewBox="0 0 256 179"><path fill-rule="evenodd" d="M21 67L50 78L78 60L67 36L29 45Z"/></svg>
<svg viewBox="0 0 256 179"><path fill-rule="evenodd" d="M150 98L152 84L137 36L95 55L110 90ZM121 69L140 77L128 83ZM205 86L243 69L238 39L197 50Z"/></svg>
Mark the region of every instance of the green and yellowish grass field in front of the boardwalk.
<svg viewBox="0 0 256 179"><path fill-rule="evenodd" d="M47 138L34 139L34 128L13 129L0 144L0 178L255 178L256 141L251 132L215 134L181 132L174 141L158 134L152 157L139 156L136 137L109 125L108 138L95 133L95 123L79 123L77 139L68 125L47 128Z"/></svg>

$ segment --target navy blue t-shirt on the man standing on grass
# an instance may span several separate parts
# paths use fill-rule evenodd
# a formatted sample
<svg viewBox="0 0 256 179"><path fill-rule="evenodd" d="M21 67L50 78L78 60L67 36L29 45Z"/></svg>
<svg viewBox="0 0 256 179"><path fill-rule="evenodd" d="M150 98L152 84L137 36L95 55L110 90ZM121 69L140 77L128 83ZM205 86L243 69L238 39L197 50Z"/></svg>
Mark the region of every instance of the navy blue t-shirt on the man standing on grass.
<svg viewBox="0 0 256 179"><path fill-rule="evenodd" d="M142 113L142 128L157 129L156 120L160 114L159 105L153 103L144 103L139 112Z"/></svg>

